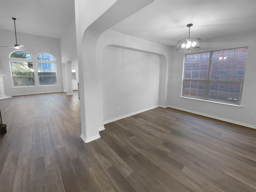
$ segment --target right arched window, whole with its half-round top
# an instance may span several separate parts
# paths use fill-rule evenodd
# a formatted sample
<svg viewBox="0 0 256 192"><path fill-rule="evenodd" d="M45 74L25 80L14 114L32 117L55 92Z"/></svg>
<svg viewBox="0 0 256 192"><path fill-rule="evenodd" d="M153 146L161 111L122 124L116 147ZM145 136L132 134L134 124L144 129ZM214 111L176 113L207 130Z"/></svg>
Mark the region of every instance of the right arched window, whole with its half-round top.
<svg viewBox="0 0 256 192"><path fill-rule="evenodd" d="M40 85L57 85L55 58L48 53L39 54L36 58Z"/></svg>

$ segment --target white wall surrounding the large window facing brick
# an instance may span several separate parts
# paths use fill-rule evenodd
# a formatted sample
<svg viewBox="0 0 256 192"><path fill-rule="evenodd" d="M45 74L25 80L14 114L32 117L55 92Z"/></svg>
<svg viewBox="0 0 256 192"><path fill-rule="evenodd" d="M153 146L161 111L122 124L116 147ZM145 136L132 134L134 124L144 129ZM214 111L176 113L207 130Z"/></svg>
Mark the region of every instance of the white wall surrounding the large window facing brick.
<svg viewBox="0 0 256 192"><path fill-rule="evenodd" d="M197 114L256 128L256 118L250 118L251 113L256 114L256 34L242 34L208 42L202 41L202 49L199 52L239 48L245 46L248 46L248 56L244 76L241 108L180 98L184 54L176 52L176 48L173 48L172 50L172 52L176 53L173 54L173 60L169 70L167 105ZM177 102L177 99L179 102Z"/></svg>

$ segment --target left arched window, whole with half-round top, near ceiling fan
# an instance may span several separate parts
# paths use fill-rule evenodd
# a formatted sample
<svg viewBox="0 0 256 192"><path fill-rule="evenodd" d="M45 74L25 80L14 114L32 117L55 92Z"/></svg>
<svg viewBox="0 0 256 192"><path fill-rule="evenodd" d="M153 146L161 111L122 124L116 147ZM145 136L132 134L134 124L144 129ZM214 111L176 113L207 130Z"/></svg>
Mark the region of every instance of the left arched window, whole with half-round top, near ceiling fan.
<svg viewBox="0 0 256 192"><path fill-rule="evenodd" d="M15 51L10 55L11 58L19 58L18 61L10 61L13 86L35 86L34 64L26 61L32 60L32 56L25 51Z"/></svg>

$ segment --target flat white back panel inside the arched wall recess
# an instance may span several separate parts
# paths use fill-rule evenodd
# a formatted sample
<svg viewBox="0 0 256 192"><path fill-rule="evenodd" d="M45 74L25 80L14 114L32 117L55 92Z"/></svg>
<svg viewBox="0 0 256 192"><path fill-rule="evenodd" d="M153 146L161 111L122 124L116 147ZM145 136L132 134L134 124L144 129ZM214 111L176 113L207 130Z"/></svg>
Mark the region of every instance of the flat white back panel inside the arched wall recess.
<svg viewBox="0 0 256 192"><path fill-rule="evenodd" d="M159 56L106 46L102 73L104 122L158 106Z"/></svg>

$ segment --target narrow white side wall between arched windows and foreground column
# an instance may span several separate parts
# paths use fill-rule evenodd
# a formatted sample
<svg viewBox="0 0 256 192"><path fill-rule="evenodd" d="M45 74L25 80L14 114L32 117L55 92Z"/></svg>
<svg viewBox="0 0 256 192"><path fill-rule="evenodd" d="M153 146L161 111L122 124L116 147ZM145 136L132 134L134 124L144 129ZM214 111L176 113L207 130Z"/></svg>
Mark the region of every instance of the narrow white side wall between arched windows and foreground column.
<svg viewBox="0 0 256 192"><path fill-rule="evenodd" d="M62 60L62 78L63 78L63 90L68 91L72 85L71 71L67 72L67 63L77 58L77 46L76 46L76 20L74 20L68 29L64 32L60 38L60 52ZM70 68L70 66L68 67ZM68 79L69 78L69 79ZM72 91L68 92L71 94Z"/></svg>

